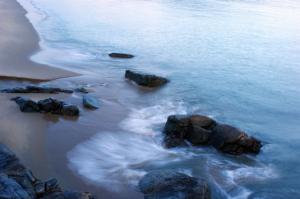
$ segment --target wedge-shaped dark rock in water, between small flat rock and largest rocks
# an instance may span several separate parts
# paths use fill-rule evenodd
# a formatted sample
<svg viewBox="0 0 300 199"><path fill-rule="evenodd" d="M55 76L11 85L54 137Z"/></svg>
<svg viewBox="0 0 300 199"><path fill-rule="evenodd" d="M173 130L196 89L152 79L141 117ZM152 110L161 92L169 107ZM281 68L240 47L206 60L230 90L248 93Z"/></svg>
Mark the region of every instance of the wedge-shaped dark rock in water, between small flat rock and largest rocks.
<svg viewBox="0 0 300 199"><path fill-rule="evenodd" d="M164 77L136 73L130 70L126 70L125 78L134 81L139 86L151 87L151 88L162 86L169 82L169 80Z"/></svg>

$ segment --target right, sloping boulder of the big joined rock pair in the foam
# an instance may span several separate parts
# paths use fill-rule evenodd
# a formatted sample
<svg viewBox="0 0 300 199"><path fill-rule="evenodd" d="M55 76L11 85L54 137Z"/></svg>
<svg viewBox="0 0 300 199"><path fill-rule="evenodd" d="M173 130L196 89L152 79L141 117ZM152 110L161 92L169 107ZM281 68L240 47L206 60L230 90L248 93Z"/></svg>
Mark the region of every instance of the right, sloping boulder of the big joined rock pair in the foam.
<svg viewBox="0 0 300 199"><path fill-rule="evenodd" d="M261 141L248 136L240 129L226 124L217 125L213 129L211 143L216 149L233 155L257 154L262 147Z"/></svg>

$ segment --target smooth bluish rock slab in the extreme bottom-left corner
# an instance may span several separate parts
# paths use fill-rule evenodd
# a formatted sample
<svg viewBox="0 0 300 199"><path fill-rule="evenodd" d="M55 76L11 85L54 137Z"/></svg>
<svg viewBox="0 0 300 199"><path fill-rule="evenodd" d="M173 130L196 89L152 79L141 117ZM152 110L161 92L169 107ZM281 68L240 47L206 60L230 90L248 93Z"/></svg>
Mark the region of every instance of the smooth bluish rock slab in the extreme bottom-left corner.
<svg viewBox="0 0 300 199"><path fill-rule="evenodd" d="M15 180L6 174L0 174L0 198L1 199L31 199L29 194Z"/></svg>

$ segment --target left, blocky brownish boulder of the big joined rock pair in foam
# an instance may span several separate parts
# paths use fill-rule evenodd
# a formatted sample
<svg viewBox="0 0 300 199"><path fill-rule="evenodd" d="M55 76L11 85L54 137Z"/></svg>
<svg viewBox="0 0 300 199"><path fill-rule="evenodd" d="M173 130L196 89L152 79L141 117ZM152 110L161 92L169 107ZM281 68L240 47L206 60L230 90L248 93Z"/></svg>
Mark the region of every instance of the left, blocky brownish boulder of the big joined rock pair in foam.
<svg viewBox="0 0 300 199"><path fill-rule="evenodd" d="M167 148L184 144L207 145L216 122L203 115L171 115L164 127L164 143Z"/></svg>

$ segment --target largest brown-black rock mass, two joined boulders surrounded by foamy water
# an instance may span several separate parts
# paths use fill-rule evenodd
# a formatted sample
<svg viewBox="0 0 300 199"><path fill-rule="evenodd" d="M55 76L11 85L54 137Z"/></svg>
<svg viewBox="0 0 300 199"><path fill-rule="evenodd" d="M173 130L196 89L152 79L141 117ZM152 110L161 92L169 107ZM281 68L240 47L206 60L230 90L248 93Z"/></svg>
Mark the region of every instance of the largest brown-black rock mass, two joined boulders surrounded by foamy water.
<svg viewBox="0 0 300 199"><path fill-rule="evenodd" d="M194 146L212 145L233 155L259 153L262 144L245 132L225 124L218 124L203 115L171 115L164 127L167 148L183 146L188 141Z"/></svg>

